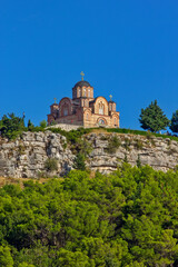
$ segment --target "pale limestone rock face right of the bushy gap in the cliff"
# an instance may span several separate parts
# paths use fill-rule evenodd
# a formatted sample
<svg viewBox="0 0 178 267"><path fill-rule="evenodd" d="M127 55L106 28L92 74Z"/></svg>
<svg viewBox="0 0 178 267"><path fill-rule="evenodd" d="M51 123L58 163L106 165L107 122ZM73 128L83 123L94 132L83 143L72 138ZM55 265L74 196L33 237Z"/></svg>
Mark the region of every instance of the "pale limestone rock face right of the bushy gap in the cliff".
<svg viewBox="0 0 178 267"><path fill-rule="evenodd" d="M111 139L117 137L118 147L115 152L109 152ZM149 165L156 170L167 171L178 165L178 142L169 138L121 134L91 134L87 136L92 142L93 150L89 157L88 167L108 174L117 169L123 160L136 166ZM115 145L115 144L113 144Z"/></svg>

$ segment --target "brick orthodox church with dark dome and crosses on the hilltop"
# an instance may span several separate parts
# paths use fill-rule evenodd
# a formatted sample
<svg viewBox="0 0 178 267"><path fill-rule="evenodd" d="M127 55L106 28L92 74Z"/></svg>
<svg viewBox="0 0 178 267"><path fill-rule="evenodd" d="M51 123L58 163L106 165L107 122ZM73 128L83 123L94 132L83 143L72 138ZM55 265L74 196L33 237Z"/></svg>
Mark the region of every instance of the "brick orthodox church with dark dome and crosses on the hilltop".
<svg viewBox="0 0 178 267"><path fill-rule="evenodd" d="M119 112L116 111L116 102L107 101L105 97L93 97L93 87L82 79L72 88L72 99L65 97L59 103L55 101L50 106L48 125L66 123L83 128L92 127L119 127Z"/></svg>

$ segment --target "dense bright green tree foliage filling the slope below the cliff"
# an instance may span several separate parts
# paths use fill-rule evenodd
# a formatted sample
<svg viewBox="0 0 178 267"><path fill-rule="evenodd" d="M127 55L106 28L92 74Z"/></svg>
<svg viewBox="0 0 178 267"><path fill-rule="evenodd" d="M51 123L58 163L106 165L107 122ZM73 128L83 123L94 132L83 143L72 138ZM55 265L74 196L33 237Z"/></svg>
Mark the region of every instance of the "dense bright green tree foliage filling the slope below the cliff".
<svg viewBox="0 0 178 267"><path fill-rule="evenodd" d="M178 266L178 170L128 164L0 189L0 266Z"/></svg>

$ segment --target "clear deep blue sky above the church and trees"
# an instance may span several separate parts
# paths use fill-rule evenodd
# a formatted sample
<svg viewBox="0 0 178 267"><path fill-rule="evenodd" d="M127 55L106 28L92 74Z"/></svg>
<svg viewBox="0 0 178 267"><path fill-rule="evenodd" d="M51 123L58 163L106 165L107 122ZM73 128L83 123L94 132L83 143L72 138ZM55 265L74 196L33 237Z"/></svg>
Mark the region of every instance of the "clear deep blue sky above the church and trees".
<svg viewBox="0 0 178 267"><path fill-rule="evenodd" d="M177 0L1 0L0 117L36 125L80 71L95 97L113 96L123 128L155 99L178 109Z"/></svg>

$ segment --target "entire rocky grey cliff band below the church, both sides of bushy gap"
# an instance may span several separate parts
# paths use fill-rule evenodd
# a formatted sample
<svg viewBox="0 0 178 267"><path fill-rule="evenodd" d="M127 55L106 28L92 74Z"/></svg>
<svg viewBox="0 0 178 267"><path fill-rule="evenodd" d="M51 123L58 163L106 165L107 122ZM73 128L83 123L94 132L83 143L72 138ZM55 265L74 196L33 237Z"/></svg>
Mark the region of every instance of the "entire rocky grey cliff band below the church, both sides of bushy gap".
<svg viewBox="0 0 178 267"><path fill-rule="evenodd" d="M178 165L178 142L169 138L120 134L89 134L83 138L92 147L87 159L91 170L108 174L123 160L164 171ZM1 138L0 176L38 177L46 171L48 158L55 158L58 164L58 170L48 175L61 176L72 169L75 157L66 137L59 134L23 132L14 141Z"/></svg>

